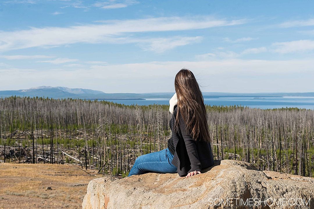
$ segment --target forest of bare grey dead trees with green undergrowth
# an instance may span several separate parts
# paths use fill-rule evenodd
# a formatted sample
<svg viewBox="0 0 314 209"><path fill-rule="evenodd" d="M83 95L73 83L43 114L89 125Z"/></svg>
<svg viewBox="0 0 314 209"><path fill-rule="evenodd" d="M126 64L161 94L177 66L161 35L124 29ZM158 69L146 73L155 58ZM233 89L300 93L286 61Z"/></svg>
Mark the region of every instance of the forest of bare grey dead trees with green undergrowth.
<svg viewBox="0 0 314 209"><path fill-rule="evenodd" d="M215 160L314 176L314 110L205 105ZM0 163L72 163L127 176L139 155L167 148L169 105L0 99Z"/></svg>

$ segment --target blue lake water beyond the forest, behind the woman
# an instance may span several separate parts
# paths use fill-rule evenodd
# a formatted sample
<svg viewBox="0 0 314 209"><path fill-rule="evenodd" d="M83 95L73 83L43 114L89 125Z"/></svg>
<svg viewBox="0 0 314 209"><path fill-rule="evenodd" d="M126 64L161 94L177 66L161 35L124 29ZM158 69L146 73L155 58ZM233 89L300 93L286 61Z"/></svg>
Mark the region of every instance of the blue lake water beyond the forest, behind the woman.
<svg viewBox="0 0 314 209"><path fill-rule="evenodd" d="M169 105L170 98L145 99L145 100L107 100L125 105ZM241 105L251 108L272 109L282 107L297 107L314 110L314 97L284 96L284 97L221 97L204 98L206 105Z"/></svg>

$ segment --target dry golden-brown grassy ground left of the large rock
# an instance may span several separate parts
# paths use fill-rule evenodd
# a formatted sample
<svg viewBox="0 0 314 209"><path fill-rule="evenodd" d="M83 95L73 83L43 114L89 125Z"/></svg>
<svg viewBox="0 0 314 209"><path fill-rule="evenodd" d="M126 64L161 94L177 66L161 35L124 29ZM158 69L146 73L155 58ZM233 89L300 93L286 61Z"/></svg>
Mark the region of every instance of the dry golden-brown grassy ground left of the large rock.
<svg viewBox="0 0 314 209"><path fill-rule="evenodd" d="M0 209L82 208L87 184L102 177L88 172L74 165L0 163Z"/></svg>

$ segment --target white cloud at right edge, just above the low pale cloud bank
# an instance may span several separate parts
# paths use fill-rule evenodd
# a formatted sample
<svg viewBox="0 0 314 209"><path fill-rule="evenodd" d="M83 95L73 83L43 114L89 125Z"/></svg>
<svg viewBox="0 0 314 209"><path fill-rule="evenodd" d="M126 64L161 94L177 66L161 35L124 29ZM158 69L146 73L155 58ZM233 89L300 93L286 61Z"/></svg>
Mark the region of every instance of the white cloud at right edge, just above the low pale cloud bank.
<svg viewBox="0 0 314 209"><path fill-rule="evenodd" d="M273 43L273 51L287 54L292 52L306 52L314 50L313 40L298 40L298 41L288 41L288 42L276 42Z"/></svg>

